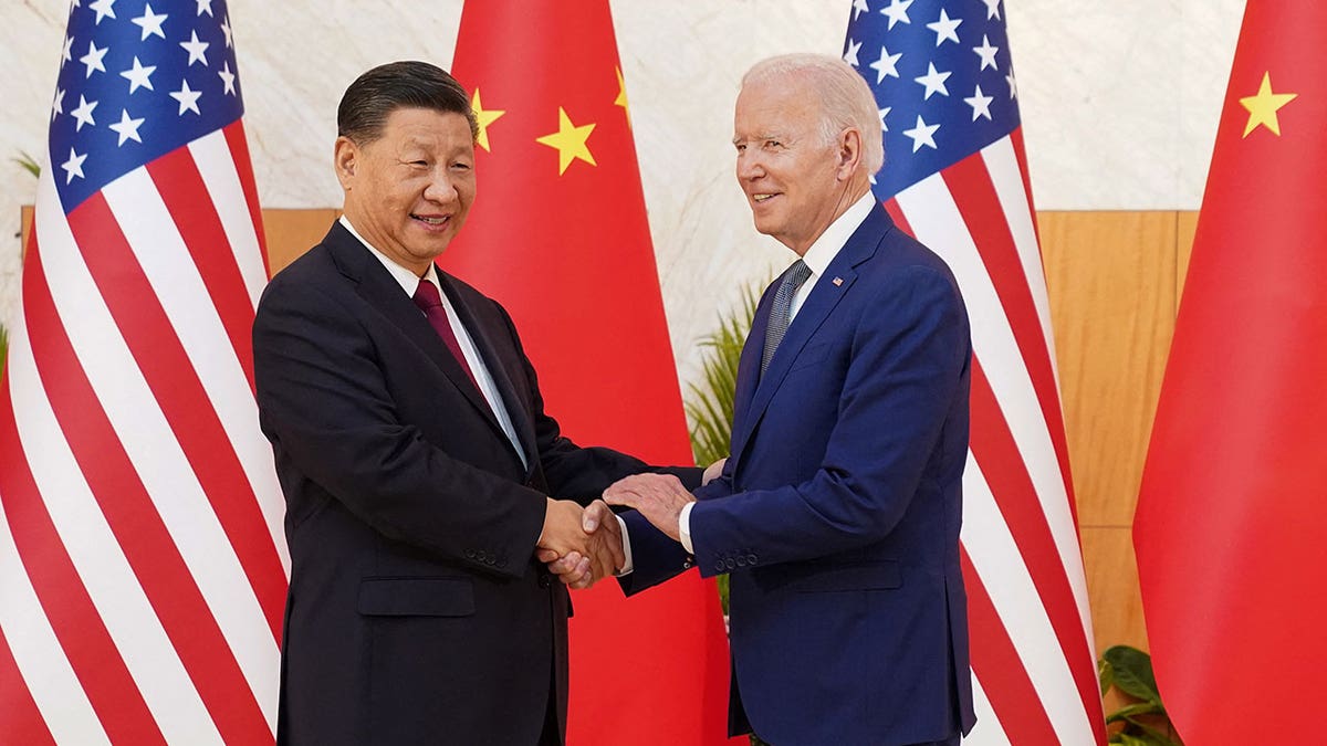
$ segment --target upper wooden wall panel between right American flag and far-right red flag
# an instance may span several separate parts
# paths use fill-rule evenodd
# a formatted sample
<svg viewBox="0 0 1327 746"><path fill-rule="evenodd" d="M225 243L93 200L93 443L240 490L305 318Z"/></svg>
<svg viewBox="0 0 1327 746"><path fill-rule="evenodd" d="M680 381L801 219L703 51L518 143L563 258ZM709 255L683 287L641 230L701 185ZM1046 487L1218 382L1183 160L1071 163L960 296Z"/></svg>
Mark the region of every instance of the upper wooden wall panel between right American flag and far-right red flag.
<svg viewBox="0 0 1327 746"><path fill-rule="evenodd" d="M1174 331L1174 214L1038 223L1079 522L1129 526Z"/></svg>

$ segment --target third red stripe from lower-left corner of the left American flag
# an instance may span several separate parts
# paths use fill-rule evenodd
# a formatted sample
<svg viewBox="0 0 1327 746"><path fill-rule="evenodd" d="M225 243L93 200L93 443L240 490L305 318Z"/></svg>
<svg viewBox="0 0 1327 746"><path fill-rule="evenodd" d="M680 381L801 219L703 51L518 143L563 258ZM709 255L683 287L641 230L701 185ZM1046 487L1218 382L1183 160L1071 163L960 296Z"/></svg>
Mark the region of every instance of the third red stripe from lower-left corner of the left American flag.
<svg viewBox="0 0 1327 746"><path fill-rule="evenodd" d="M98 192L84 206L93 203L104 207L105 199ZM110 251L113 232L118 228L106 223L101 243L94 246ZM218 731L231 743L271 738L267 718L220 627L97 400L60 323L40 265L33 273L32 264L36 263L29 263L24 277L35 275L35 287L25 285L24 296L31 296L33 304L29 332L37 372L84 479ZM119 272L117 280L127 281L127 276L129 272Z"/></svg>

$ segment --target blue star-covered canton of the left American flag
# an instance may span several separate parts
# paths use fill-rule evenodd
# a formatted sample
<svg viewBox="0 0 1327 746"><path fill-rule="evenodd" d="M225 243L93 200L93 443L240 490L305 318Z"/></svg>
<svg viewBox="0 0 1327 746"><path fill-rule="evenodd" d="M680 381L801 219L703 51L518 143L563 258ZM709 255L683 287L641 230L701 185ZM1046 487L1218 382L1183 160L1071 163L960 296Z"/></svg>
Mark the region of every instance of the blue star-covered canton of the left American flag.
<svg viewBox="0 0 1327 746"><path fill-rule="evenodd" d="M240 118L226 0L73 0L50 112L65 212Z"/></svg>

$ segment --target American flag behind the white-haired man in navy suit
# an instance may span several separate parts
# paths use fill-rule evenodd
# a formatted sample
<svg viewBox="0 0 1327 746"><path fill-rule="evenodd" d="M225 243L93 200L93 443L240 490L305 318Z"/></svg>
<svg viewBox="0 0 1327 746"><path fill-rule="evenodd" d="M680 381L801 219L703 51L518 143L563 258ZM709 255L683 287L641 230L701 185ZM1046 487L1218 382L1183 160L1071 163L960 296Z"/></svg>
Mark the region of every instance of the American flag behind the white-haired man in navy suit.
<svg viewBox="0 0 1327 746"><path fill-rule="evenodd" d="M966 742L1103 743L1003 13L999 0L855 0L843 56L880 108L876 195L945 258L971 317L962 561L978 723Z"/></svg>

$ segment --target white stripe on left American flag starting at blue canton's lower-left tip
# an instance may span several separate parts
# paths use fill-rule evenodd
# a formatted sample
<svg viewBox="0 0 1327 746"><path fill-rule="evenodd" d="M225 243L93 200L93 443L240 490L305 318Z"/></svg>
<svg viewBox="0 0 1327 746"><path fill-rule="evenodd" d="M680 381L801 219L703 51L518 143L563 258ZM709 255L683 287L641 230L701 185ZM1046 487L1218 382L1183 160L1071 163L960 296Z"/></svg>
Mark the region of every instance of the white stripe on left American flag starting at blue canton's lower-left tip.
<svg viewBox="0 0 1327 746"><path fill-rule="evenodd" d="M69 341L255 698L275 723L277 682L272 674L279 670L280 653L253 588L93 283L69 226L49 212L41 222L42 258L48 275L61 279L52 295Z"/></svg>

